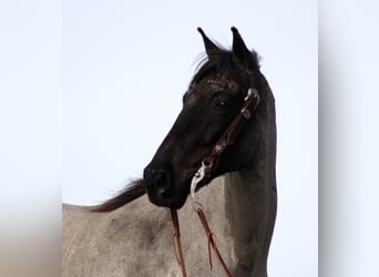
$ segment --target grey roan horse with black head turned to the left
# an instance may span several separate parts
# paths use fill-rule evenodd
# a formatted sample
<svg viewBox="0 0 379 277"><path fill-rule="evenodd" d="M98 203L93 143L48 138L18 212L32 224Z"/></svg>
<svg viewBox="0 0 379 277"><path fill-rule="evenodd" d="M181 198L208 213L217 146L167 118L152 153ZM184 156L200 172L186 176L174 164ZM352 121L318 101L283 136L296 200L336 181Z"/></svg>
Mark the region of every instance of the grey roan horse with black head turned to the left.
<svg viewBox="0 0 379 277"><path fill-rule="evenodd" d="M207 238L187 201L194 192L232 276L267 276L277 209L275 99L236 28L231 50L198 31L206 58L143 178L98 206L63 204L62 276L181 276L170 208L178 209L188 276L224 276L219 263L209 268ZM242 111L252 91L258 101ZM238 116L244 125L228 133ZM219 143L225 134L233 138Z"/></svg>

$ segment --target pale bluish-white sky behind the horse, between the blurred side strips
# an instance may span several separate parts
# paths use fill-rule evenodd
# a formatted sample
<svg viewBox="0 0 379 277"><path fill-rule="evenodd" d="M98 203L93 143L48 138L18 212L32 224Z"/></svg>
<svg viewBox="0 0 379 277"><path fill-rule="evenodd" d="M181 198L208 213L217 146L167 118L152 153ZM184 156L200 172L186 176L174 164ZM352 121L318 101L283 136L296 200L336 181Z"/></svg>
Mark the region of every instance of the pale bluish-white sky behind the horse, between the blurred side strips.
<svg viewBox="0 0 379 277"><path fill-rule="evenodd" d="M204 51L196 28L229 47L235 25L277 104L269 273L317 276L315 1L64 1L62 22L64 203L96 204L142 176Z"/></svg>

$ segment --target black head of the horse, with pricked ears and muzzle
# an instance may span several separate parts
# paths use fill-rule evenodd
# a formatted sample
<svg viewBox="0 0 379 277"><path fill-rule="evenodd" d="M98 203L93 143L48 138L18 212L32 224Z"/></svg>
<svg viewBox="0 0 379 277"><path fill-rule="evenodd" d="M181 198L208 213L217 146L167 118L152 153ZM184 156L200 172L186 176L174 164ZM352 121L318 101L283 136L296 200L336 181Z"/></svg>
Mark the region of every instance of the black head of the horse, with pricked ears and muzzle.
<svg viewBox="0 0 379 277"><path fill-rule="evenodd" d="M180 208L190 193L191 179L218 138L240 113L249 89L259 92L266 81L259 71L258 55L249 51L236 28L233 48L217 47L203 37L207 60L198 69L183 96L183 110L170 133L144 170L148 198L158 206ZM254 158L259 138L257 110L253 111L237 141L228 146L214 168L212 178L246 166Z"/></svg>

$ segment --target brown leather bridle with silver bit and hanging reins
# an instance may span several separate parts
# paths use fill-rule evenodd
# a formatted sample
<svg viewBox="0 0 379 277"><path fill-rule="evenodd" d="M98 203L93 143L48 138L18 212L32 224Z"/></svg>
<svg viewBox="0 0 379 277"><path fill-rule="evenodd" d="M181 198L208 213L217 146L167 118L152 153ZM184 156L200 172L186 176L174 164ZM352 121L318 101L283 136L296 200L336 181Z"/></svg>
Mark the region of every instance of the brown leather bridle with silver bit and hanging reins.
<svg viewBox="0 0 379 277"><path fill-rule="evenodd" d="M211 230L209 225L206 220L205 214L204 214L204 205L196 198L196 186L198 183L201 183L204 177L211 177L212 173L214 172L215 167L218 164L219 156L224 153L225 148L229 145L232 145L236 138L238 137L238 134L245 126L246 122L250 119L252 112L257 107L259 104L259 94L256 89L250 88L247 91L247 95L244 100L244 104L240 109L240 112L238 115L233 120L226 132L222 135L222 137L218 140L218 142L215 144L215 146L212 150L211 155L205 157L203 160L202 166L197 170L195 175L192 178L191 182L191 198L192 198L192 206L194 211L197 213L201 223L203 225L203 228L205 230L205 234L208 239L208 257L209 257L209 265L211 270L213 269L213 263L212 263L212 254L211 254L211 246L213 250L215 252L219 263L223 266L223 269L226 274L226 276L231 277L232 274L228 270L223 257L219 254L219 250L216 246L215 239L214 239L214 233ZM182 276L186 277L186 269L185 269L185 263L184 263L184 256L183 256L183 247L181 243L181 232L180 232L180 224L178 224L178 217L177 212L174 208L171 208L171 216L173 218L174 223L174 239L176 240L177 252L176 258L182 269Z"/></svg>

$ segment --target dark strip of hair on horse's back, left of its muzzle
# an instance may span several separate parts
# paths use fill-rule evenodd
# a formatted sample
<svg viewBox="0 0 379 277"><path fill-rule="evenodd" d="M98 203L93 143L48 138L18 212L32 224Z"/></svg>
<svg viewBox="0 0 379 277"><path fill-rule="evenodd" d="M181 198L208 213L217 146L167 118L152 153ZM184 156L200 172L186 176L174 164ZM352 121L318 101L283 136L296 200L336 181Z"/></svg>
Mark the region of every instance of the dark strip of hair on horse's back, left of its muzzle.
<svg viewBox="0 0 379 277"><path fill-rule="evenodd" d="M91 212L112 212L125 204L139 198L145 194L145 182L144 179L136 179L129 184L123 191L121 191L113 198L100 204L98 206L91 207Z"/></svg>

